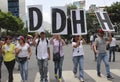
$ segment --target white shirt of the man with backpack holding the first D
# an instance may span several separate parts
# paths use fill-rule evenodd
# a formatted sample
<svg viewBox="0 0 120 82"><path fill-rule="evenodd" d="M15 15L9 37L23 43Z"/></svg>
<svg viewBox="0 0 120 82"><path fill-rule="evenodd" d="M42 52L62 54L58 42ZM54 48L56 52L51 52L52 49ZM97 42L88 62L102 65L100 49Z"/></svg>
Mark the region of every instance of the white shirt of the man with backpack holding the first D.
<svg viewBox="0 0 120 82"><path fill-rule="evenodd" d="M35 42L38 43L38 39L36 39ZM44 40L40 39L40 42L37 46L37 58L38 59L48 58L48 51L47 50L48 50L49 46L50 46L50 43L49 43L49 41L47 43L46 38Z"/></svg>

